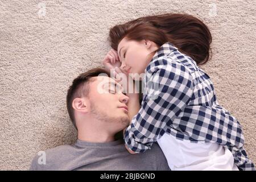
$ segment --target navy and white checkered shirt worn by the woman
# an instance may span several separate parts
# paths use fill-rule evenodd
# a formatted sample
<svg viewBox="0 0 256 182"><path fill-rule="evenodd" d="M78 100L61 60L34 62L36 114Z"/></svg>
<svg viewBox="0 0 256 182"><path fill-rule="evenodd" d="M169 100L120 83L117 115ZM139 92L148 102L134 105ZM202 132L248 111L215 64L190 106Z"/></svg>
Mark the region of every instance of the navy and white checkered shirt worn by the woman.
<svg viewBox="0 0 256 182"><path fill-rule="evenodd" d="M210 77L191 57L167 42L152 57L145 73L147 94L125 131L125 143L131 150L144 152L168 133L180 140L221 144L232 152L238 168L255 170L243 147L240 123L218 104ZM158 88L148 87L147 80Z"/></svg>

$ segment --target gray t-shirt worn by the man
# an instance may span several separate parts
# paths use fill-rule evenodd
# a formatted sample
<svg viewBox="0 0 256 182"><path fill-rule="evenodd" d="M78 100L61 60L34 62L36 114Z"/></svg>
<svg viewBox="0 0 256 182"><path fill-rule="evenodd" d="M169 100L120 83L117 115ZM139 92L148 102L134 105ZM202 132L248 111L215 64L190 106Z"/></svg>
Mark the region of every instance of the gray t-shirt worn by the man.
<svg viewBox="0 0 256 182"><path fill-rule="evenodd" d="M58 146L43 153L35 156L30 170L170 170L157 143L142 154L129 154L122 139L108 143L77 140L75 144Z"/></svg>

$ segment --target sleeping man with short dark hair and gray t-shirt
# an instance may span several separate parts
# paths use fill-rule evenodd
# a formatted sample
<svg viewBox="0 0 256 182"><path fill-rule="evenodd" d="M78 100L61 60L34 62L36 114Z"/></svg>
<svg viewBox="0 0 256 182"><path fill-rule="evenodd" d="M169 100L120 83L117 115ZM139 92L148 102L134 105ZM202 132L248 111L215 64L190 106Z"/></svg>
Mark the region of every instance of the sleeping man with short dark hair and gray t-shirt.
<svg viewBox="0 0 256 182"><path fill-rule="evenodd" d="M36 155L30 170L168 170L158 144L133 155L127 152L123 138L115 140L116 134L122 136L129 125L128 102L122 86L105 69L82 73L73 80L67 94L77 142L46 150L45 163Z"/></svg>

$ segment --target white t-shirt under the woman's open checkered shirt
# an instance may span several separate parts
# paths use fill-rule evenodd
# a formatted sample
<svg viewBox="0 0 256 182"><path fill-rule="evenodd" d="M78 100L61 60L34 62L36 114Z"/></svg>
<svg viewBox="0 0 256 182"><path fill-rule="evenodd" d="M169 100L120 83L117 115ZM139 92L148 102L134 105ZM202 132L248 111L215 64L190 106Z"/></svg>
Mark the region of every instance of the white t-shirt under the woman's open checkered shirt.
<svg viewBox="0 0 256 182"><path fill-rule="evenodd" d="M173 171L233 170L238 171L228 148L217 143L192 143L165 133L158 144Z"/></svg>

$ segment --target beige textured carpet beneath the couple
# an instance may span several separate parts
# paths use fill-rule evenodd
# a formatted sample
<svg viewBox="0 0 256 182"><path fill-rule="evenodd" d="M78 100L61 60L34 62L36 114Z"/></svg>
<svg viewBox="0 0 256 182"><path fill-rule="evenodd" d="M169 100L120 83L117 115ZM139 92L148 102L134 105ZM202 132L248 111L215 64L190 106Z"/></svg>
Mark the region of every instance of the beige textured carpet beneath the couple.
<svg viewBox="0 0 256 182"><path fill-rule="evenodd" d="M240 121L256 163L256 1L0 2L0 169L26 170L40 150L72 143L65 107L69 84L100 65L117 23L187 13L208 24L213 57L202 67L218 101Z"/></svg>

